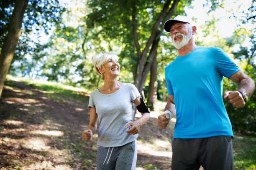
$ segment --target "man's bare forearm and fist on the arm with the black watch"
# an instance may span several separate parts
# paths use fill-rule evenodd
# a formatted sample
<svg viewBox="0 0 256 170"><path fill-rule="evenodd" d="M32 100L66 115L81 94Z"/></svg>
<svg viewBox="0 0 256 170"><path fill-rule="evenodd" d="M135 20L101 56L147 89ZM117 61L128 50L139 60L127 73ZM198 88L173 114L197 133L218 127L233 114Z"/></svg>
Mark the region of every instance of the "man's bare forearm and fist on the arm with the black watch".
<svg viewBox="0 0 256 170"><path fill-rule="evenodd" d="M245 92L248 97L251 97L255 90L255 83L251 77L240 70L229 78L238 85L239 91ZM229 102L236 108L241 108L246 104L243 100L243 95L239 91L227 91L223 95L224 98L228 98Z"/></svg>

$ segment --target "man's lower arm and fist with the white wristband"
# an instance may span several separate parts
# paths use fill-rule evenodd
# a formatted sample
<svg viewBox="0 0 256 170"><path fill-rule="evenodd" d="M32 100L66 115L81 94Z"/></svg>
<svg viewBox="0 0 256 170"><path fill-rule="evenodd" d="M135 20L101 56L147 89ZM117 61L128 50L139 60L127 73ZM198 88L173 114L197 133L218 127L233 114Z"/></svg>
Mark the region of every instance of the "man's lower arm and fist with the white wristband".
<svg viewBox="0 0 256 170"><path fill-rule="evenodd" d="M176 116L174 95L168 95L168 100L167 100L166 106L164 107L164 111L166 111L166 110L171 112L171 115L169 115L169 113L164 113L163 115L158 116L157 122L158 122L159 128L161 128L161 129L166 128L166 126L168 125L168 123L170 121L170 116L172 116L172 117Z"/></svg>

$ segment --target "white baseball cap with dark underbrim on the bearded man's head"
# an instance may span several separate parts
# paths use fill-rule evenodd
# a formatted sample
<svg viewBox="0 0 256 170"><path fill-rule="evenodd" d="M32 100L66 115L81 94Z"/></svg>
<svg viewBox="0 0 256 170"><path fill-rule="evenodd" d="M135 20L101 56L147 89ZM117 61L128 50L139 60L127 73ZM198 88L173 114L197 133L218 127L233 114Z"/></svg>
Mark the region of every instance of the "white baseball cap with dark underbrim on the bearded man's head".
<svg viewBox="0 0 256 170"><path fill-rule="evenodd" d="M189 23L192 26L195 25L195 23L191 18L188 18L187 16L184 16L184 15L177 15L173 19L167 20L164 23L164 30L166 30L167 32L170 32L170 29L174 23Z"/></svg>

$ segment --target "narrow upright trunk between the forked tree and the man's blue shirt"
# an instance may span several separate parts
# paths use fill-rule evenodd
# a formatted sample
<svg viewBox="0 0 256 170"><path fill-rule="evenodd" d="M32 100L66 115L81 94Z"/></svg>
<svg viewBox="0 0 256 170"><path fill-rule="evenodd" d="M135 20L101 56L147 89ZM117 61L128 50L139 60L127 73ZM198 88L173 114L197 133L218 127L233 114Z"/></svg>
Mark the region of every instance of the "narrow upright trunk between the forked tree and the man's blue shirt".
<svg viewBox="0 0 256 170"><path fill-rule="evenodd" d="M158 40L159 42L159 40ZM150 82L148 88L148 102L147 105L150 110L154 110L154 105L157 99L157 51L154 52L154 60L150 67Z"/></svg>

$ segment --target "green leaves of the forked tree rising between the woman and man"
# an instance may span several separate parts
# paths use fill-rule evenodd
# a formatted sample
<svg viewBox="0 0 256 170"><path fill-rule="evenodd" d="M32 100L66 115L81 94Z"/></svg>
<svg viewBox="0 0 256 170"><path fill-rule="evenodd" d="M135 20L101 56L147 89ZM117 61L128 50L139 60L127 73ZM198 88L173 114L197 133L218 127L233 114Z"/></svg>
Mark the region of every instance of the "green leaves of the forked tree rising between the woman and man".
<svg viewBox="0 0 256 170"><path fill-rule="evenodd" d="M132 10L133 2L135 3L136 11ZM190 3L191 0L179 2L175 10L175 15L184 14L184 7L190 5ZM125 60L125 62L121 62L121 64L123 64L129 72L132 72L133 75L136 75L138 60L139 57L141 57L139 53L143 52L143 50L147 51L147 49L145 49L146 44L148 43L153 26L164 4L165 1L160 2L152 0L129 0L125 2L120 0L115 2L111 0L89 0L88 7L92 10L91 13L88 14L87 27L92 29L93 32L98 32L102 35L103 39L106 39L105 37L107 35L111 41L117 40L120 42L122 47L120 48L120 58L121 61ZM132 20L132 15L135 15L136 21ZM169 18L165 18L164 20L166 19ZM137 36L133 34L135 25ZM162 25L163 23L161 23L158 28L160 32L164 32ZM138 51L135 48L134 38L138 38L140 47ZM146 57L148 57L148 55ZM146 59L146 62L149 61L150 60Z"/></svg>

